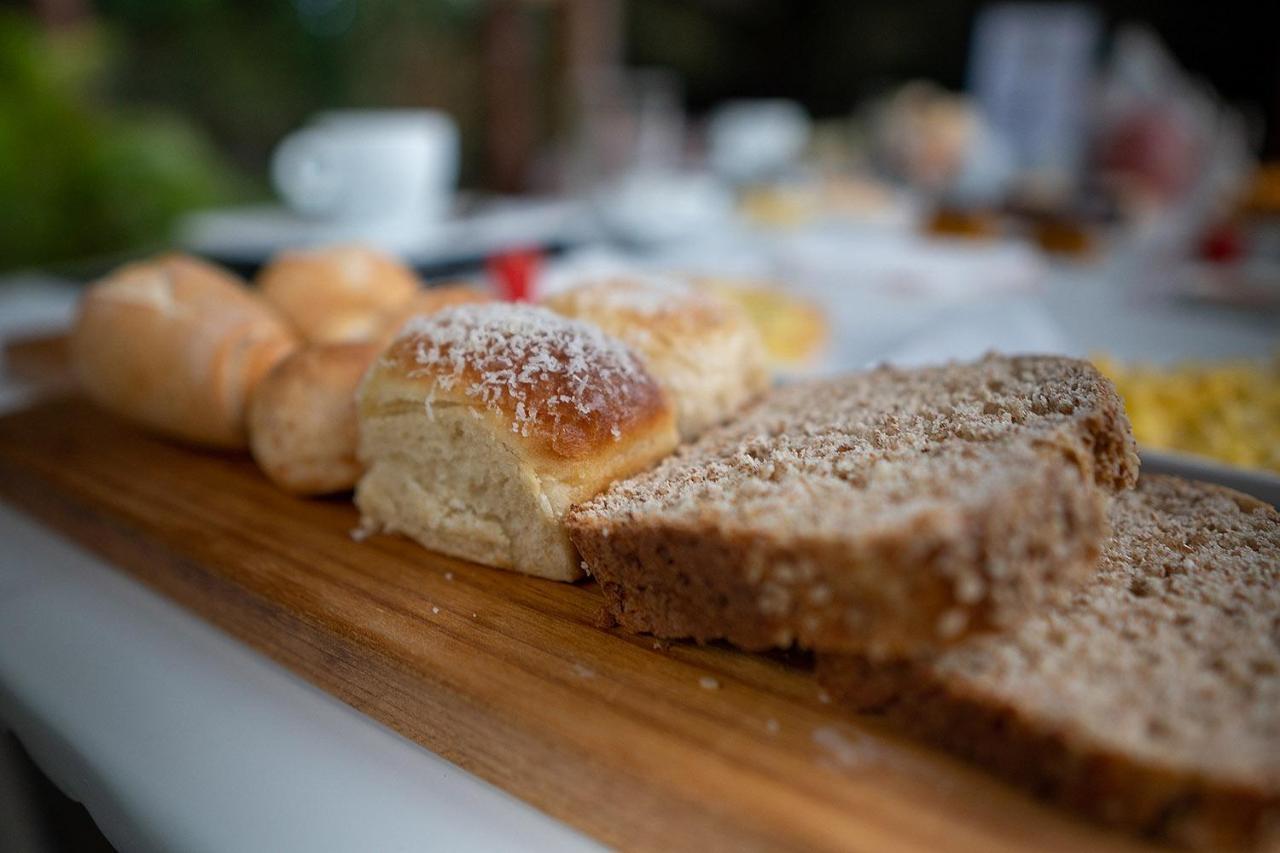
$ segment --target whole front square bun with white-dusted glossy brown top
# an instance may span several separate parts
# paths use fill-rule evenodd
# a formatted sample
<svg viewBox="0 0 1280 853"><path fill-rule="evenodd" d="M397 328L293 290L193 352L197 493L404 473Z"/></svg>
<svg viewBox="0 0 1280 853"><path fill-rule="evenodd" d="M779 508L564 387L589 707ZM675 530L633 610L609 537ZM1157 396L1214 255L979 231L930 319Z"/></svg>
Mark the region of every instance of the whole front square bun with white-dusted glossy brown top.
<svg viewBox="0 0 1280 853"><path fill-rule="evenodd" d="M676 446L672 406L622 342L527 305L413 319L358 392L370 530L554 580L582 569L570 505Z"/></svg>

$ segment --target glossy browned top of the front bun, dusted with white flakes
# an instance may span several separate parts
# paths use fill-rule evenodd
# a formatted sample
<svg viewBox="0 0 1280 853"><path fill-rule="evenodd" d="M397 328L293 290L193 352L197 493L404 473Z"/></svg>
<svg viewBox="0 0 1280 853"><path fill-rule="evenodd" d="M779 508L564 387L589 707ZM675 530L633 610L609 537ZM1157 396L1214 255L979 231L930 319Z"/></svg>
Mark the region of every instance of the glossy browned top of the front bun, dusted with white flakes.
<svg viewBox="0 0 1280 853"><path fill-rule="evenodd" d="M410 320L365 388L397 380L411 382L429 411L460 403L488 411L563 459L603 452L673 418L662 388L622 342L526 305L463 305Z"/></svg>

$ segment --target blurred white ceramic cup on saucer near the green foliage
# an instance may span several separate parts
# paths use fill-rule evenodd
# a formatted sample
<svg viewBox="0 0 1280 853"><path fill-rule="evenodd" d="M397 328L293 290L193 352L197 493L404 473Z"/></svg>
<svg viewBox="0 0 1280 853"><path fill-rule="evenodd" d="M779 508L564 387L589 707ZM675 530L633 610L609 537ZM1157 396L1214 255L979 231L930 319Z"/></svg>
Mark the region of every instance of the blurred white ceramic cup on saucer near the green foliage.
<svg viewBox="0 0 1280 853"><path fill-rule="evenodd" d="M280 197L307 216L438 220L458 179L458 128L435 110L320 113L271 155Z"/></svg>

